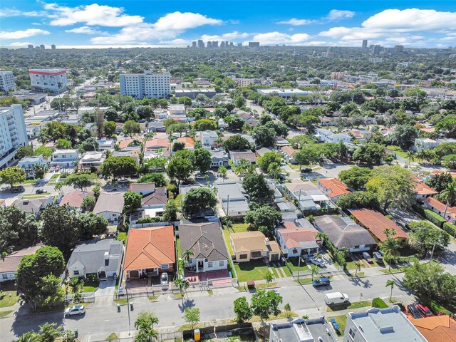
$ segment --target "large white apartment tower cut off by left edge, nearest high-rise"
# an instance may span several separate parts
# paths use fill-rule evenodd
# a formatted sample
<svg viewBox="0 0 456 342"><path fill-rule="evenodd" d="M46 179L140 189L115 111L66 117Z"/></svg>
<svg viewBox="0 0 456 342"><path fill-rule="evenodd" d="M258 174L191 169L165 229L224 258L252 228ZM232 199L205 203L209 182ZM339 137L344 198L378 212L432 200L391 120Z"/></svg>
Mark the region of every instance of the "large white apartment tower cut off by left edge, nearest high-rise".
<svg viewBox="0 0 456 342"><path fill-rule="evenodd" d="M0 169L14 158L16 150L28 145L22 105L0 108Z"/></svg>

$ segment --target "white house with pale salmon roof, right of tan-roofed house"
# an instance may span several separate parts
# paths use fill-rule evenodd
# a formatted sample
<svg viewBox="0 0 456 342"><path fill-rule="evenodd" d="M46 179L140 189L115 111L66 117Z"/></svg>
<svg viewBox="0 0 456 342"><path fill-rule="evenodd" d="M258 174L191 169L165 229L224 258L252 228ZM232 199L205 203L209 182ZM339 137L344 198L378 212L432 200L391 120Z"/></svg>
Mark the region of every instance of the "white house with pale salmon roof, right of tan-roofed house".
<svg viewBox="0 0 456 342"><path fill-rule="evenodd" d="M318 253L318 230L298 227L294 222L284 222L283 225L284 229L276 229L276 237L285 257L310 257Z"/></svg>

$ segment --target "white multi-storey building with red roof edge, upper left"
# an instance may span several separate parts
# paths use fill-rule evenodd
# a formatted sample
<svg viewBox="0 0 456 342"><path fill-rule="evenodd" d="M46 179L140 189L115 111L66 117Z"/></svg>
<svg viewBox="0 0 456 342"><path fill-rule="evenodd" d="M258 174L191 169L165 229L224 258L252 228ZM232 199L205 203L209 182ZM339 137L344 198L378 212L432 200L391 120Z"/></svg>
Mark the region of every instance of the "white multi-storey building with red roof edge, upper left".
<svg viewBox="0 0 456 342"><path fill-rule="evenodd" d="M28 75L32 89L61 93L68 86L65 69L31 69Z"/></svg>

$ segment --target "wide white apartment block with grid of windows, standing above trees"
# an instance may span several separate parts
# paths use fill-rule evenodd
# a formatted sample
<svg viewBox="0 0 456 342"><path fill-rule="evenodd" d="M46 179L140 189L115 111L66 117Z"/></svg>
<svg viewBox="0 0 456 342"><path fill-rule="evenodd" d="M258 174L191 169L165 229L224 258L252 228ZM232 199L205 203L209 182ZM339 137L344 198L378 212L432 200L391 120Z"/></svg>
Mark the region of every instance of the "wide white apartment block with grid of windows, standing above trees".
<svg viewBox="0 0 456 342"><path fill-rule="evenodd" d="M134 98L166 98L171 95L170 73L124 73L120 75L120 93Z"/></svg>

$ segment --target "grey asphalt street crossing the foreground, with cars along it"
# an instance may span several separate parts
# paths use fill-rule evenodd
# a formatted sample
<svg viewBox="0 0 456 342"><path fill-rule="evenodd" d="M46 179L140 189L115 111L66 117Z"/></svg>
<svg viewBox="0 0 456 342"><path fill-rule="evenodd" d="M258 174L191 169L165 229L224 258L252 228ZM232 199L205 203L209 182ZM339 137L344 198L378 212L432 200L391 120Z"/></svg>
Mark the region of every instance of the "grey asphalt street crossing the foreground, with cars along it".
<svg viewBox="0 0 456 342"><path fill-rule="evenodd" d="M283 305L289 303L294 311L313 309L320 316L326 312L326 305L323 297L330 291L342 291L348 294L351 301L356 302L363 294L363 300L373 299L374 297L390 296L390 289L385 287L388 279L402 279L401 275L385 274L381 276L371 276L358 280L338 279L331 283L328 289L314 289L311 285L285 286L276 291L283 296ZM217 290L214 291L217 293ZM149 302L145 297L133 299L134 310L130 311L130 321L133 323L138 313L143 310L154 311L160 319L159 327L180 326L184 322L182 316L186 307L196 306L201 311L201 321L212 321L232 318L233 301L240 296L249 299L252 294L249 292L235 292L214 294L209 296L207 291L191 292L190 299L184 302L177 299L168 299L166 295L161 296L157 302ZM403 301L410 301L410 292L400 284L393 289L393 296L400 296ZM21 314L18 316L0 318L0 341L12 341L15 336L26 331L38 330L38 326L46 322L63 323L66 329L78 328L80 336L106 334L112 332L128 331L128 310L127 306L122 306L118 313L115 304L110 306L89 306L86 314L81 317L63 318L62 312L46 314Z"/></svg>

